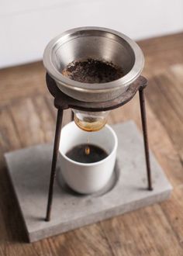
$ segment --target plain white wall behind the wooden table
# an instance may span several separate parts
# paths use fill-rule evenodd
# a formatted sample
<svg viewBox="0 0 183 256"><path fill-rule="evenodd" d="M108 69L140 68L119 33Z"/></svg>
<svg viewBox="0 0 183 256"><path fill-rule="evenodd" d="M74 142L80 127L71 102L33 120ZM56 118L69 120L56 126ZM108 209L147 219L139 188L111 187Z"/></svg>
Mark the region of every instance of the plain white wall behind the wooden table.
<svg viewBox="0 0 183 256"><path fill-rule="evenodd" d="M134 40L183 30L183 0L0 0L0 67L37 61L57 34L105 26Z"/></svg>

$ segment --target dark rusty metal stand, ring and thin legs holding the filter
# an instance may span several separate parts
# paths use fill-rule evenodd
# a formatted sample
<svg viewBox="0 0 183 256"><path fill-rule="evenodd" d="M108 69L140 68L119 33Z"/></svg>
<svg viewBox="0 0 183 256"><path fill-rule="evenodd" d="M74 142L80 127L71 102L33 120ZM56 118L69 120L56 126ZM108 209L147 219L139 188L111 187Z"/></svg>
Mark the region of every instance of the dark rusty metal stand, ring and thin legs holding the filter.
<svg viewBox="0 0 183 256"><path fill-rule="evenodd" d="M60 144L60 132L61 132L61 125L62 125L62 118L63 118L63 111L64 109L79 109L86 112L100 112L100 111L107 111L116 109L119 106L123 106L130 99L133 99L133 96L139 91L140 95L140 112L141 112L141 119L142 119L142 128L143 128L143 142L144 142L144 150L145 150L145 157L146 157L146 164L147 164L147 189L152 190L152 182L151 182L151 174L150 174L150 157L149 157L149 146L148 146L148 138L147 138L147 119L146 119L146 109L145 109L145 101L143 95L143 89L147 86L147 79L140 76L136 79L133 84L131 84L126 92L122 95L119 95L118 98L112 99L108 102L80 102L76 99L73 99L57 88L57 85L53 78L47 74L47 87L54 96L54 106L58 109L57 110L57 124L56 124L56 131L55 131L55 138L54 138L54 152L52 158L52 166L51 166L51 173L50 173L50 187L49 187L49 194L47 200L47 216L46 221L50 220L50 213L51 213L51 206L53 201L54 195L54 180L56 176L56 165L57 165L57 154L58 154L58 147ZM73 113L71 114L71 119L73 119Z"/></svg>

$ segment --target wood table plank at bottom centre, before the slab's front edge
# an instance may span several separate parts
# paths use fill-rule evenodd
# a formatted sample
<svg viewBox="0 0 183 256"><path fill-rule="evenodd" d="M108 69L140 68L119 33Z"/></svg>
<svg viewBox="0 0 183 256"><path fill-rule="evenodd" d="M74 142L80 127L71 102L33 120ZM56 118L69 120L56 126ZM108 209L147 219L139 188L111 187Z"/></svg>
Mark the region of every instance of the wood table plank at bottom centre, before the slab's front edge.
<svg viewBox="0 0 183 256"><path fill-rule="evenodd" d="M49 240L50 244L55 247L56 255L115 255L98 224L67 232L65 235L53 237Z"/></svg>

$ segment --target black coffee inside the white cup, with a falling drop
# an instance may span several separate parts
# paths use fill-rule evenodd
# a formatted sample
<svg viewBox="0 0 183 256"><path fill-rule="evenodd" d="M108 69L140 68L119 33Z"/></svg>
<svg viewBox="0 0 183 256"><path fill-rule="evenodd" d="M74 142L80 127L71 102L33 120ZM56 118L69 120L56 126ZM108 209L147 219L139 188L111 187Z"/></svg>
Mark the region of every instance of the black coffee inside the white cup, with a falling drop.
<svg viewBox="0 0 183 256"><path fill-rule="evenodd" d="M108 154L101 147L92 144L80 144L67 151L66 156L80 163L91 164L101 161Z"/></svg>

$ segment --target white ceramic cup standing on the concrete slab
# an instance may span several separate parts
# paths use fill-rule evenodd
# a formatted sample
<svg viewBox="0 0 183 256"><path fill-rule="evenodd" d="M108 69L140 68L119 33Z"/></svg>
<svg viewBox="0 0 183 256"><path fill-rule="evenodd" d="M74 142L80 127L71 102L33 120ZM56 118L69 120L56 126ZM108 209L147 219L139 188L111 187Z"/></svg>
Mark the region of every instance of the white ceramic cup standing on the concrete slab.
<svg viewBox="0 0 183 256"><path fill-rule="evenodd" d="M80 163L66 156L67 151L79 144L94 144L102 147L107 153L102 161L91 164ZM102 189L112 176L116 162L118 140L116 133L109 125L102 130L88 133L81 130L74 122L68 123L61 131L60 137L60 171L59 180L64 181L76 192L90 194ZM60 181L61 183L61 181Z"/></svg>

